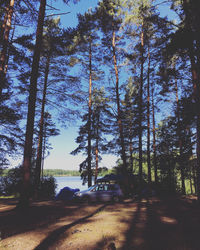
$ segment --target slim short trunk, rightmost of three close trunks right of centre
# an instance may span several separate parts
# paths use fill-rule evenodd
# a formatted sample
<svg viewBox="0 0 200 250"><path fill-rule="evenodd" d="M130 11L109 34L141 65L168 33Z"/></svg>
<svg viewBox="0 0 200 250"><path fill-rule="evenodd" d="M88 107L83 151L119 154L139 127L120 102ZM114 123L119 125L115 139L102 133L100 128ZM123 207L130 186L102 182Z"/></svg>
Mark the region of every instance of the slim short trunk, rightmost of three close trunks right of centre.
<svg viewBox="0 0 200 250"><path fill-rule="evenodd" d="M154 106L154 87L151 88L152 98L152 122L153 122L153 165L154 165L154 176L155 183L158 184L158 169L157 169L157 156L156 156L156 122L155 122L155 106Z"/></svg>

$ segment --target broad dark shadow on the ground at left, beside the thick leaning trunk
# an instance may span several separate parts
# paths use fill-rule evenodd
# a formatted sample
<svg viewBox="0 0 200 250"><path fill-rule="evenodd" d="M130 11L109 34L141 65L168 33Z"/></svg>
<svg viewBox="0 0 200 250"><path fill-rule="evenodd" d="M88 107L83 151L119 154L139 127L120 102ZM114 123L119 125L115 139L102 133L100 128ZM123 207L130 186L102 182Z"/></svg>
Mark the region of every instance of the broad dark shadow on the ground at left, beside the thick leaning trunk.
<svg viewBox="0 0 200 250"><path fill-rule="evenodd" d="M27 210L11 209L0 212L1 239L10 236L44 228L55 223L58 219L73 215L83 207L82 204L66 205L62 202L38 202L32 204Z"/></svg>

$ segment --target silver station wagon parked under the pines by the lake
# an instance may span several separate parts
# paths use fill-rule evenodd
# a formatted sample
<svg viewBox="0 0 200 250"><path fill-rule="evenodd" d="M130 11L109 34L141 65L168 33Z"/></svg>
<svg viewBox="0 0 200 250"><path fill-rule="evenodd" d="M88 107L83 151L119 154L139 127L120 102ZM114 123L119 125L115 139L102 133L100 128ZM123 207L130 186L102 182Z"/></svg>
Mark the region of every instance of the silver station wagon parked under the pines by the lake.
<svg viewBox="0 0 200 250"><path fill-rule="evenodd" d="M85 202L118 202L123 199L123 193L118 184L96 184L87 190L76 192L74 198Z"/></svg>

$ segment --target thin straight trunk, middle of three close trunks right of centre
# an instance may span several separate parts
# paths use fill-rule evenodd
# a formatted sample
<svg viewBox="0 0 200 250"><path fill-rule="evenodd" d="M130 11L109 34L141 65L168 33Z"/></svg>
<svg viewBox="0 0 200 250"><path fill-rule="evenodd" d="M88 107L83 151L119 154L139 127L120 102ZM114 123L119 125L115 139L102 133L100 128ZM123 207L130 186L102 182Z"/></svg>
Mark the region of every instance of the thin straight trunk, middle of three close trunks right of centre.
<svg viewBox="0 0 200 250"><path fill-rule="evenodd" d="M148 48L148 72L147 72L147 166L148 183L151 184L151 156L150 156L150 67L151 58Z"/></svg>

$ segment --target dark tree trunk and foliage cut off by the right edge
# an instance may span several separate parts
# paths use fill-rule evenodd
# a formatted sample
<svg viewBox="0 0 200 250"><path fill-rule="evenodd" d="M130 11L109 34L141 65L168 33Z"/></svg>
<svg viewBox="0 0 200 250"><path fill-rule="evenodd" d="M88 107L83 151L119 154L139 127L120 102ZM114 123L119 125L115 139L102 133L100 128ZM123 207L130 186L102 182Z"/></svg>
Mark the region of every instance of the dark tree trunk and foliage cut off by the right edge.
<svg viewBox="0 0 200 250"><path fill-rule="evenodd" d="M199 1L186 1L181 3L172 1L172 8L178 13L180 17L180 25L173 37L173 44L175 51L184 51L189 57L191 65L193 95L196 110L196 155L197 155L197 196L200 200L200 37L199 37Z"/></svg>

